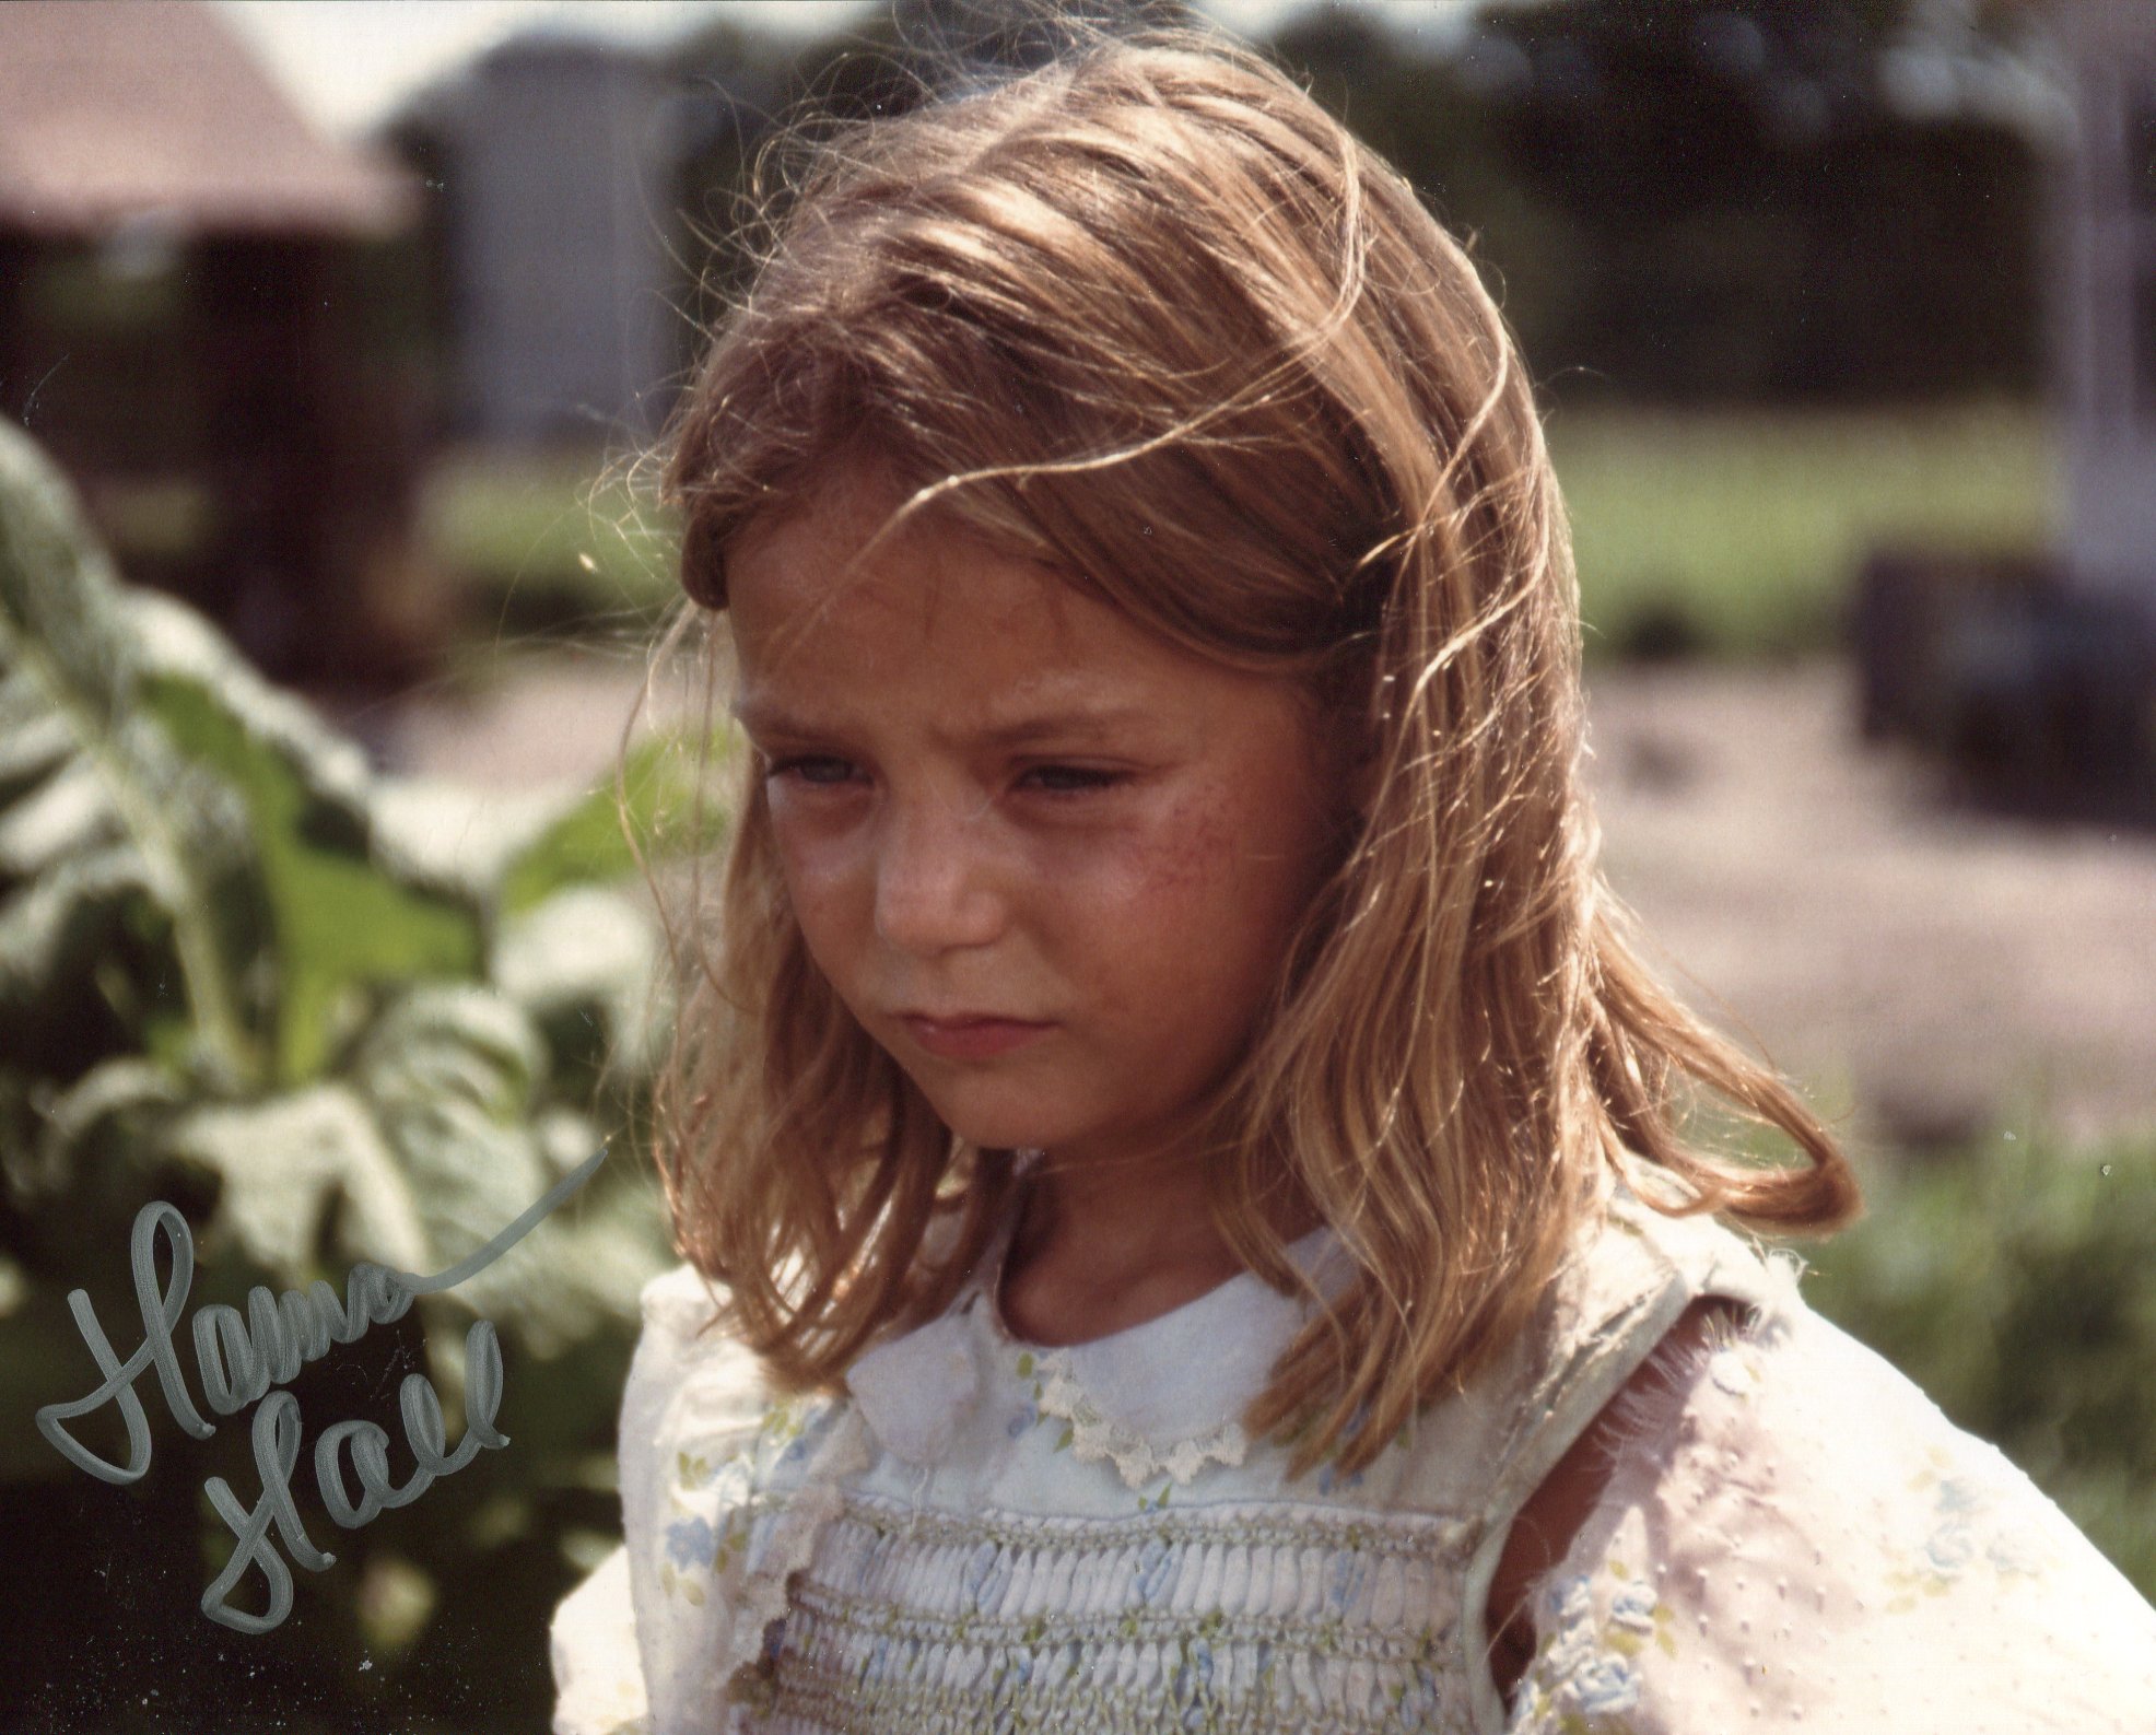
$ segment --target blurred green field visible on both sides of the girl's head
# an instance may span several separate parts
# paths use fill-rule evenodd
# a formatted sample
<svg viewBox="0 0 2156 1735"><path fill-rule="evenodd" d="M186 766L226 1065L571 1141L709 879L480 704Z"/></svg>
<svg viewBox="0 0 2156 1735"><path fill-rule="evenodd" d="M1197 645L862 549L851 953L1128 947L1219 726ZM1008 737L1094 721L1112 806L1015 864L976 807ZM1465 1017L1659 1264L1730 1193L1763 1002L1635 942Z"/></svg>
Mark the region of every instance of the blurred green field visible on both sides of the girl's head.
<svg viewBox="0 0 2156 1735"><path fill-rule="evenodd" d="M2033 552L2057 457L2016 405L1764 416L1570 412L1550 446L1572 506L1587 655L1828 649L1865 552ZM617 636L675 599L673 524L599 455L455 453L423 502L470 631Z"/></svg>

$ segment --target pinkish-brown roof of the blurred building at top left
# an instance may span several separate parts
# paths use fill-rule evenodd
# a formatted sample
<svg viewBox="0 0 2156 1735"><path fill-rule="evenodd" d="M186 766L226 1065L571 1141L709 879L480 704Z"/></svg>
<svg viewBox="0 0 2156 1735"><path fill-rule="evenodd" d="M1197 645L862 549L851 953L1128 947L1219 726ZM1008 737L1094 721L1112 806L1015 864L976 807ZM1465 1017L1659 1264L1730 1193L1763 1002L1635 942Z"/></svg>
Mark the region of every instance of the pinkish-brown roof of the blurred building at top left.
<svg viewBox="0 0 2156 1735"><path fill-rule="evenodd" d="M0 4L0 228L388 233L403 172L321 138L205 0Z"/></svg>

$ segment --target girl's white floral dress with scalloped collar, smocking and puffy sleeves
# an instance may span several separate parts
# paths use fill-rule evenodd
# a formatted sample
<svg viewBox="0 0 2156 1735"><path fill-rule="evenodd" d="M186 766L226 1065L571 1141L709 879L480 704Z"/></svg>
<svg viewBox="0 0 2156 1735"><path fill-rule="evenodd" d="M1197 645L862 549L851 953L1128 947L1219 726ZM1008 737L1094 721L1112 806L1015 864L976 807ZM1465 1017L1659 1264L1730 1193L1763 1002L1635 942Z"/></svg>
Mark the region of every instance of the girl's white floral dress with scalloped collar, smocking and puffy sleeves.
<svg viewBox="0 0 2156 1735"><path fill-rule="evenodd" d="M1343 1276L1328 1231L1294 1254ZM1300 1302L1242 1276L1044 1351L998 1272L787 1403L692 1272L649 1287L627 1543L556 1616L558 1735L2156 1731L2156 1612L1712 1222L1619 1196L1535 1330L1352 1476L1235 1422ZM1511 1517L1699 1295L1755 1323L1626 1399L1507 1705Z"/></svg>

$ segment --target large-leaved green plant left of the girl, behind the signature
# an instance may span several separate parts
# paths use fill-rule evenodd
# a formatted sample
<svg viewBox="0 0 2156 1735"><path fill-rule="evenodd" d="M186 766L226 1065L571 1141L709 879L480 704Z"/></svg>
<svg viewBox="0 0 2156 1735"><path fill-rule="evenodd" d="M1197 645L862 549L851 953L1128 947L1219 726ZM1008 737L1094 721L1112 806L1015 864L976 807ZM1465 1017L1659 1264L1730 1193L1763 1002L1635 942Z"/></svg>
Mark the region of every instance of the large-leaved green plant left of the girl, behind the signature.
<svg viewBox="0 0 2156 1735"><path fill-rule="evenodd" d="M694 821L699 759L651 741L625 767L651 860L716 841ZM341 1285L356 1261L444 1269L632 1129L666 1022L653 925L610 886L632 864L612 789L489 817L377 778L205 621L123 584L67 483L0 427L0 1403L17 1418L0 1509L22 1560L123 1537L132 1586L114 1604L110 1560L56 1571L4 1685L41 1683L60 1718L65 1657L97 1634L103 1726L127 1716L108 1698L149 1705L147 1679L168 1683L155 1726L177 1726L172 1677L207 1694L233 1666L201 1701L226 1724L248 1703L231 1679L257 1681L263 1709L306 1692L425 1711L470 1692L457 1653L485 1644L476 1722L530 1722L578 1532L612 1524L636 1291L666 1257L627 1151L515 1252L291 1382L310 1438L367 1416L401 1442L392 1375L427 1375L455 1412L479 1313L505 1349L511 1448L354 1532L321 1517L304 1457L302 1511L338 1563L298 1573L272 1634L194 1606L231 1550L205 1479L248 1504L261 1489L246 1414L196 1442L144 1382L153 1461L125 1491L67 1466L30 1416L97 1379L67 1291L88 1291L123 1356L140 1341L127 1237L147 1200L190 1222L190 1306L241 1304L252 1285ZM80 1425L108 1457L119 1433L97 1446L97 1425L114 1420ZM155 1616L134 1651L110 1640L116 1608Z"/></svg>

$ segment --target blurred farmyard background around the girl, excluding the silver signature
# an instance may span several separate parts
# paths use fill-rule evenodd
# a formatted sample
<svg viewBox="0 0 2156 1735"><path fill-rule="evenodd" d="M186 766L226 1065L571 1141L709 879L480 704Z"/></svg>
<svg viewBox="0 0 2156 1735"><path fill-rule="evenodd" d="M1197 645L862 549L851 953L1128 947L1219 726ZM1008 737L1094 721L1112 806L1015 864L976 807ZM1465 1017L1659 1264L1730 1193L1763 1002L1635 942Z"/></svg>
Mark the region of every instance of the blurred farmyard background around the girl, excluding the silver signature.
<svg viewBox="0 0 2156 1735"><path fill-rule="evenodd" d="M1869 1179L1815 1304L2156 1595L2156 6L1197 11L1520 334L1611 877ZM1037 54L944 0L0 9L0 1731L543 1724L668 1261L632 845L724 832L638 459L774 127ZM129 1487L32 1427L93 1384L71 1289L138 1341L144 1200L237 1304L448 1265L606 1138L293 1382L401 1440L487 1317L513 1446L356 1532L302 1474L338 1563L276 1632L196 1608L246 1416L144 1386Z"/></svg>

